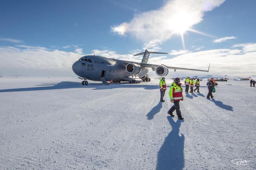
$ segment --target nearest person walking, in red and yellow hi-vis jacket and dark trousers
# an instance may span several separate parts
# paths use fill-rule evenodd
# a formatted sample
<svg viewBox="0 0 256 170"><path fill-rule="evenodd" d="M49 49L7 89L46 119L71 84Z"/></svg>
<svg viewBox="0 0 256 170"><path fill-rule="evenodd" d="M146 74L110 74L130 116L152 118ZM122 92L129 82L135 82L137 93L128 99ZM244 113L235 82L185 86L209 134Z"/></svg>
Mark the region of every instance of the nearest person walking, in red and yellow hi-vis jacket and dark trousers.
<svg viewBox="0 0 256 170"><path fill-rule="evenodd" d="M182 118L181 116L180 104L179 104L180 100L181 101L183 100L182 91L183 90L181 87L180 79L177 77L174 79L174 82L172 83L169 91L171 103L174 103L174 105L169 109L167 113L170 114L172 117L174 117L173 112L176 110L179 120L184 120L184 118Z"/></svg>

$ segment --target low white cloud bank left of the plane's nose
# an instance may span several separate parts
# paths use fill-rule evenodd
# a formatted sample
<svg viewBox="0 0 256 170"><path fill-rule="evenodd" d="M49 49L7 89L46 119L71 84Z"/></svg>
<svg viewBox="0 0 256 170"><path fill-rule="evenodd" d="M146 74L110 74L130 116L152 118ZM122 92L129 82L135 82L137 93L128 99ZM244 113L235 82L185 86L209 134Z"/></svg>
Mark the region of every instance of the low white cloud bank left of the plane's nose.
<svg viewBox="0 0 256 170"><path fill-rule="evenodd" d="M5 69L64 69L72 71L72 64L81 57L74 52L49 50L45 47L0 47L0 72ZM8 74L7 72L5 74Z"/></svg>

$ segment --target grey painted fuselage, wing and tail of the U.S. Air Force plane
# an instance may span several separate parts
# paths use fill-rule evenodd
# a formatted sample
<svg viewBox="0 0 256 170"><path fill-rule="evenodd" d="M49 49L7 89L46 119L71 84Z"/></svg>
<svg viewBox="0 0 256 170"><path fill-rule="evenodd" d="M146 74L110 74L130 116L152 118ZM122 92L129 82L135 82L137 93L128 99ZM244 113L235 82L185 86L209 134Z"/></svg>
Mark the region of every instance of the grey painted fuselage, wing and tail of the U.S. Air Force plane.
<svg viewBox="0 0 256 170"><path fill-rule="evenodd" d="M143 55L143 59L141 62L131 62L131 61L123 61L118 59L110 59L101 56L84 56L81 57L78 61L76 61L72 69L74 73L78 76L89 79L93 81L101 81L100 77L103 72L105 72L105 79L107 81L131 81L133 76L137 78L142 78L148 73L148 67L151 67L153 70L159 66L155 64L147 64L148 58L150 54L167 54L167 53L160 53L160 52L149 52L145 50L140 54L136 54L134 56ZM87 61L85 61L87 59ZM91 62L89 62L89 59ZM125 67L129 63L138 64L141 66L140 72L133 75L126 72ZM165 66L165 65L162 65ZM182 69L182 70L192 70L192 71L205 71L205 70L197 70L197 69L187 69L187 68L179 68L179 67L169 67L165 66L168 69ZM208 69L209 71L209 69ZM207 71L207 72L208 72Z"/></svg>

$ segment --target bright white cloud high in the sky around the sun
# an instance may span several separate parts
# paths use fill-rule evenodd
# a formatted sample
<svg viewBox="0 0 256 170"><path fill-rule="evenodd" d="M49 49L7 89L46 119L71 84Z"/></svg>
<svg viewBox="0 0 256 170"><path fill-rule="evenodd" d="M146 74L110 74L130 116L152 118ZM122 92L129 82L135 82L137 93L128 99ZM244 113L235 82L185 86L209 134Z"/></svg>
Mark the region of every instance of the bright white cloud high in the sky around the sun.
<svg viewBox="0 0 256 170"><path fill-rule="evenodd" d="M112 32L119 35L131 34L137 39L149 42L167 40L172 33L179 34L203 20L204 12L220 6L225 0L168 0L158 10L143 12L130 22L112 26Z"/></svg>

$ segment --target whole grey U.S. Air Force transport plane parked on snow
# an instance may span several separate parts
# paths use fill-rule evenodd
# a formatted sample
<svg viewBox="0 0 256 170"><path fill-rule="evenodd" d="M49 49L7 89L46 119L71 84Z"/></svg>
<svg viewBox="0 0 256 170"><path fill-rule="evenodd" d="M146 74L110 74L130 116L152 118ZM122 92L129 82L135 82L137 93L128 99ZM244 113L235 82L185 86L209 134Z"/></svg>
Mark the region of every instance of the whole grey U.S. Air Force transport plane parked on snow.
<svg viewBox="0 0 256 170"><path fill-rule="evenodd" d="M163 52L149 52L145 50L134 56L143 55L141 62L123 61L118 59L110 59L101 56L84 56L76 61L72 69L76 73L79 79L82 79L82 85L88 85L87 80L101 81L104 84L110 82L128 81L131 83L142 82L145 75L148 73L148 68L153 69L158 76L166 76L168 69L191 70L191 71L206 71L198 69L188 69L180 67L170 67L156 64L148 64L148 58L150 54L168 54ZM147 79L150 81L150 79Z"/></svg>

